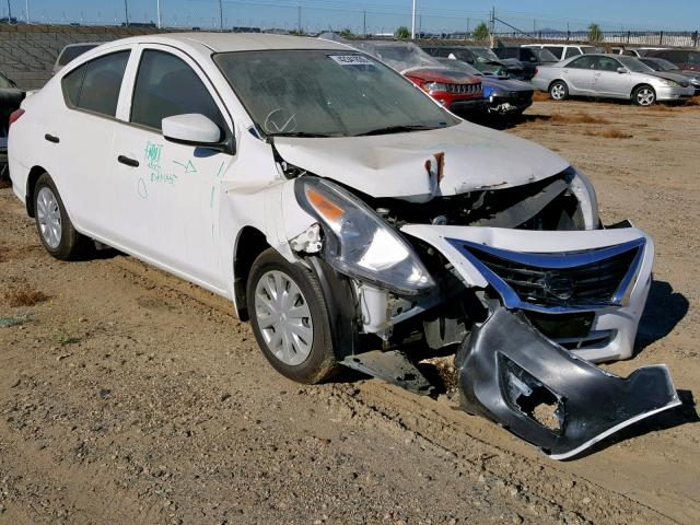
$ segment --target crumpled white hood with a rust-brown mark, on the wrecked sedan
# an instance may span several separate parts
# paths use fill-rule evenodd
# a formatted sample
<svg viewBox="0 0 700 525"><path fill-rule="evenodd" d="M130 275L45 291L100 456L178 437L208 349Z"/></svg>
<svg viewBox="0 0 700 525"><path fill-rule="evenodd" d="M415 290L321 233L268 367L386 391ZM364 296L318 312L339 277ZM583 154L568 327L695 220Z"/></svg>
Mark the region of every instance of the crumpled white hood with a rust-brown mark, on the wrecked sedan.
<svg viewBox="0 0 700 525"><path fill-rule="evenodd" d="M539 144L466 121L371 137L277 137L275 145L284 161L316 175L372 197L415 202L520 186L569 167Z"/></svg>

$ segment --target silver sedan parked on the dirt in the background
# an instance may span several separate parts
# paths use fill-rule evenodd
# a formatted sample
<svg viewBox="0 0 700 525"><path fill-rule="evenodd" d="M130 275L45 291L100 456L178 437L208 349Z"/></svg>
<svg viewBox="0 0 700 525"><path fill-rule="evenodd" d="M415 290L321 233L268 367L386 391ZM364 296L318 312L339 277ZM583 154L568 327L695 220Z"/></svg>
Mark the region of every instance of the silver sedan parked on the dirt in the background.
<svg viewBox="0 0 700 525"><path fill-rule="evenodd" d="M539 66L532 82L555 101L583 95L626 98L651 106L657 101L679 101L695 94L687 79L653 71L637 58L619 55L582 55Z"/></svg>

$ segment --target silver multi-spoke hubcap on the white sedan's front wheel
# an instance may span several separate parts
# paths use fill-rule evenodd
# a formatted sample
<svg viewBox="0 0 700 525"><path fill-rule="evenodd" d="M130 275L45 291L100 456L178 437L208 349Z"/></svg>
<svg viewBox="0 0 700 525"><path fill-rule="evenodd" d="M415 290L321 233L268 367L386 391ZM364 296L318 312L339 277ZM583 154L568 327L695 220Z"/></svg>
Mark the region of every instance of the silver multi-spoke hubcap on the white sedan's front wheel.
<svg viewBox="0 0 700 525"><path fill-rule="evenodd" d="M285 273L262 275L255 287L255 315L267 348L284 364L303 363L314 342L314 325L304 294Z"/></svg>

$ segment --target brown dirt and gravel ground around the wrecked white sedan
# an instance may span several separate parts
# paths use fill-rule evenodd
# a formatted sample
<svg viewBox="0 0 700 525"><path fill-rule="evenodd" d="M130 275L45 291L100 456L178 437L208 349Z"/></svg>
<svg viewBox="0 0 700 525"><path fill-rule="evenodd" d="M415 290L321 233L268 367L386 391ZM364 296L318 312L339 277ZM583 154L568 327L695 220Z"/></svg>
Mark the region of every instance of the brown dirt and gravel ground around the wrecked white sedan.
<svg viewBox="0 0 700 525"><path fill-rule="evenodd" d="M573 116L573 118L572 118ZM684 407L557 463L347 374L302 386L223 300L122 255L60 262L0 189L0 524L700 523L700 107L538 102L508 132L656 243L638 352Z"/></svg>

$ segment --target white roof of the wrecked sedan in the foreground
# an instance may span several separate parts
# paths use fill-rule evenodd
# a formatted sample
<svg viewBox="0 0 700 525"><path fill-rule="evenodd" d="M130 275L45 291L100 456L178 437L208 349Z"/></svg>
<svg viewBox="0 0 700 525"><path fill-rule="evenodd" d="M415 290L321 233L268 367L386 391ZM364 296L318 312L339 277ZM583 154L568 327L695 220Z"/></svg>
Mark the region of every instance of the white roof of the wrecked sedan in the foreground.
<svg viewBox="0 0 700 525"><path fill-rule="evenodd" d="M191 46L199 44L214 52L257 51L266 49L348 49L343 44L308 36L260 33L166 33L128 38L131 43L162 43Z"/></svg>

